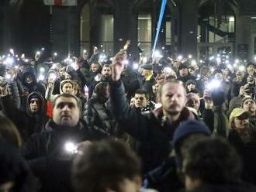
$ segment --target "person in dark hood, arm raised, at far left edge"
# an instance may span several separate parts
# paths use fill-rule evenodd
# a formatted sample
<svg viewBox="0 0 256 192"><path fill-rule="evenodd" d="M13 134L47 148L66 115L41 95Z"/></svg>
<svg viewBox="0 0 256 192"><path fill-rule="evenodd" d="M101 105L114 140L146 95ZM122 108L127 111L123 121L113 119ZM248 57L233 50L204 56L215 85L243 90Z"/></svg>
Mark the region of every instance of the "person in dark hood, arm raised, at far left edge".
<svg viewBox="0 0 256 192"><path fill-rule="evenodd" d="M1 98L2 110L15 123L22 139L26 141L33 133L40 132L47 122L46 101L40 93L32 92L26 98L26 111L22 111L16 84L10 84L10 89L12 94Z"/></svg>

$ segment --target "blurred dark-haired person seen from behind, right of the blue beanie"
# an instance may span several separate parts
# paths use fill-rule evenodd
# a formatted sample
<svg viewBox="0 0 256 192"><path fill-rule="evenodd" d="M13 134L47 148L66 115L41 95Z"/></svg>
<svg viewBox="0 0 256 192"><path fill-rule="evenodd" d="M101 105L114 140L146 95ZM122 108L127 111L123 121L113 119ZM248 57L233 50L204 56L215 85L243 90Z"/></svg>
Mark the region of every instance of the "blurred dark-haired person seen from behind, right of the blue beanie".
<svg viewBox="0 0 256 192"><path fill-rule="evenodd" d="M233 146L220 138L192 143L185 154L182 172L190 192L253 192L241 181L242 163Z"/></svg>

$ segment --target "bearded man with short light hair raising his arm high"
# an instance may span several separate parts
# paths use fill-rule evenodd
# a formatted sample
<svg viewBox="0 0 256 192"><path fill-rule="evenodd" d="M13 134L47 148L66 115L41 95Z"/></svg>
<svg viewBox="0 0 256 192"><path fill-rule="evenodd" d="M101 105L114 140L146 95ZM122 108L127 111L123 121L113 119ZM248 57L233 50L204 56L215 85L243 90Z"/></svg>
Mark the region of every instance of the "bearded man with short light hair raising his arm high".
<svg viewBox="0 0 256 192"><path fill-rule="evenodd" d="M159 100L162 108L147 115L130 108L120 81L124 58L124 53L118 53L113 61L109 86L111 109L120 127L142 142L141 156L145 170L150 170L168 157L172 135L179 123L193 119L194 115L185 108L185 89L178 82L165 82L161 87Z"/></svg>

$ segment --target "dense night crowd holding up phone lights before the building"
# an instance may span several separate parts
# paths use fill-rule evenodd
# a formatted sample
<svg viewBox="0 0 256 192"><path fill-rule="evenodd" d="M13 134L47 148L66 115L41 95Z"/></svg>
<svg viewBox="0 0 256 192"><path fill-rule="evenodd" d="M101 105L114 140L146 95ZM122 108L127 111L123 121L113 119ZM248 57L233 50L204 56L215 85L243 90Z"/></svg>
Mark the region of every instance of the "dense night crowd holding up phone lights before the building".
<svg viewBox="0 0 256 192"><path fill-rule="evenodd" d="M0 60L0 191L256 191L254 63L42 53Z"/></svg>

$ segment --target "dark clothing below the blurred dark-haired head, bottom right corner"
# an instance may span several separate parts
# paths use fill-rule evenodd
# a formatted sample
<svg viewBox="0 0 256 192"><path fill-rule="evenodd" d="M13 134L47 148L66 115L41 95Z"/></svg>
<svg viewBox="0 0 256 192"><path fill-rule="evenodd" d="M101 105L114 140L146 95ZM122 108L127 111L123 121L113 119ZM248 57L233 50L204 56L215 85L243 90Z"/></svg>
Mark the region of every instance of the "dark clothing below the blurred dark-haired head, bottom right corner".
<svg viewBox="0 0 256 192"><path fill-rule="evenodd" d="M256 188L249 183L223 184L223 185L202 185L193 192L254 192Z"/></svg>

